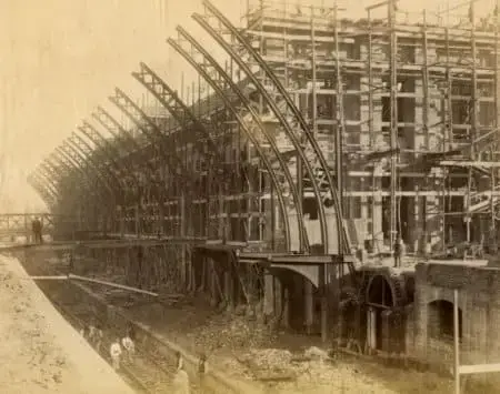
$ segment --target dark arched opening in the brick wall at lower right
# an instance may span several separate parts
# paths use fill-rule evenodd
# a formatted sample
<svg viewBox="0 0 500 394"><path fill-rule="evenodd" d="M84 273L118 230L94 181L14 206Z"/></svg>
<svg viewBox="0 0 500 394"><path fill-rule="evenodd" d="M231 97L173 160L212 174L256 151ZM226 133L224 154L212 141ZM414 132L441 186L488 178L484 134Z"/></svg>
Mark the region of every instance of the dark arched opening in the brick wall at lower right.
<svg viewBox="0 0 500 394"><path fill-rule="evenodd" d="M428 335L438 341L453 341L453 303L437 300L428 305ZM459 309L459 339L462 339L462 311Z"/></svg>

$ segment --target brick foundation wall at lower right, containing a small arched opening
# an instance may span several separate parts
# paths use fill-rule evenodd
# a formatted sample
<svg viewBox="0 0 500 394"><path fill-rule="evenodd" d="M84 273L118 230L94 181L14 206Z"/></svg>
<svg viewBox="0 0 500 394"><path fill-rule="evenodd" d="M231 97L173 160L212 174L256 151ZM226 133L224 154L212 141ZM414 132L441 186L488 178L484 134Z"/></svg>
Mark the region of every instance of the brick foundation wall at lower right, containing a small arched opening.
<svg viewBox="0 0 500 394"><path fill-rule="evenodd" d="M418 264L416 270L414 326L407 331L407 343L414 343L412 353L437 366L452 366L452 339L437 334L441 323L437 310L429 304L437 301L452 304L453 287L458 286L460 363L499 363L500 271L452 264Z"/></svg>

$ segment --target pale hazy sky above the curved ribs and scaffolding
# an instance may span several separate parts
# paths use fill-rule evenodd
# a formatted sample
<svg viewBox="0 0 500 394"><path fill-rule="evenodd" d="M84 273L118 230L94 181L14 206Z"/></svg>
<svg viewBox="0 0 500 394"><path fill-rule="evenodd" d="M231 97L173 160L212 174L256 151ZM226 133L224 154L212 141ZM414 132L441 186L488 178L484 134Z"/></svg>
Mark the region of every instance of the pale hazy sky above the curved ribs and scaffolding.
<svg viewBox="0 0 500 394"><path fill-rule="evenodd" d="M234 23L247 4L247 0L212 2ZM333 0L301 2L333 4ZM378 1L339 0L347 8L343 16L352 18L362 18L364 7L374 2ZM450 0L449 4L453 8L464 2ZM208 48L217 48L190 18L192 12L201 11L200 3L200 0L0 0L0 158L7 156L0 213L43 209L26 176L83 119L91 120L98 104L122 119L108 100L114 87L143 100L146 89L130 75L140 61L177 89L182 72L187 82L193 78L190 65L170 49L166 39L177 24L182 24ZM409 12L447 7L446 1L437 0L399 3L401 10ZM493 6L494 0L479 0L478 16L491 11ZM454 12L467 13L467 6Z"/></svg>

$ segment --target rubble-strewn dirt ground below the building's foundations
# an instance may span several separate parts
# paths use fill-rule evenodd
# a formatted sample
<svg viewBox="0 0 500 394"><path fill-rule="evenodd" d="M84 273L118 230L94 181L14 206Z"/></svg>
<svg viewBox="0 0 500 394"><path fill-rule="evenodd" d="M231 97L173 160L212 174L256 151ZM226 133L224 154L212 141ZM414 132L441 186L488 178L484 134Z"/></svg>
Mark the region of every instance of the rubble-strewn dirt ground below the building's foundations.
<svg viewBox="0 0 500 394"><path fill-rule="evenodd" d="M381 362L339 355L321 361L304 357L319 339L271 333L254 317L217 312L200 300L176 307L139 302L129 313L193 354L206 352L209 362L239 380L261 381L267 393L426 393L452 392L452 381Z"/></svg>

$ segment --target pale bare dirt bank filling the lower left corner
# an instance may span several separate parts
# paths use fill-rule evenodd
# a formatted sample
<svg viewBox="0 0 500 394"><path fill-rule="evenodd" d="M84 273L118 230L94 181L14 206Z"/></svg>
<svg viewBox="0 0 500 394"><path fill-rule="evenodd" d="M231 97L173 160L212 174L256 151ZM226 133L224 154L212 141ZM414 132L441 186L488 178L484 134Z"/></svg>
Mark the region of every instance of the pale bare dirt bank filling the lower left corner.
<svg viewBox="0 0 500 394"><path fill-rule="evenodd" d="M14 259L0 255L0 392L132 394L43 296Z"/></svg>

